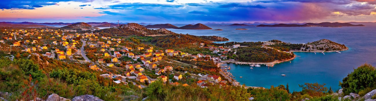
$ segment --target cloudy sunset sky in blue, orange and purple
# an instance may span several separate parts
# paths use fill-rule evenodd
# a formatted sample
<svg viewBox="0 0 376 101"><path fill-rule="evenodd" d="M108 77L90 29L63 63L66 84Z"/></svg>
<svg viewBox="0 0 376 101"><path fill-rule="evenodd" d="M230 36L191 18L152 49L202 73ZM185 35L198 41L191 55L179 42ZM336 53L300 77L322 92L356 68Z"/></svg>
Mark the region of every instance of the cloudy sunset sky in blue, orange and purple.
<svg viewBox="0 0 376 101"><path fill-rule="evenodd" d="M0 21L36 23L376 22L376 0L5 0Z"/></svg>

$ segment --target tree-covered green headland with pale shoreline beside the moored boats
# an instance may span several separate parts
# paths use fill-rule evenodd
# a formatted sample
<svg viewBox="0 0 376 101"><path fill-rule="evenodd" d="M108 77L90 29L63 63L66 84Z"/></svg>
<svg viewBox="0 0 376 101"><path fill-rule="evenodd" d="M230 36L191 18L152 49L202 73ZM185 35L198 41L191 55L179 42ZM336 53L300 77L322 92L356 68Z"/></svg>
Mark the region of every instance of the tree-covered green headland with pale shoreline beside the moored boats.
<svg viewBox="0 0 376 101"><path fill-rule="evenodd" d="M294 57L294 54L263 47L241 47L236 55L242 62L273 62Z"/></svg>

